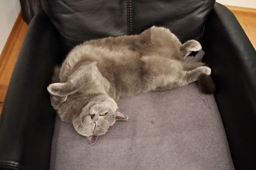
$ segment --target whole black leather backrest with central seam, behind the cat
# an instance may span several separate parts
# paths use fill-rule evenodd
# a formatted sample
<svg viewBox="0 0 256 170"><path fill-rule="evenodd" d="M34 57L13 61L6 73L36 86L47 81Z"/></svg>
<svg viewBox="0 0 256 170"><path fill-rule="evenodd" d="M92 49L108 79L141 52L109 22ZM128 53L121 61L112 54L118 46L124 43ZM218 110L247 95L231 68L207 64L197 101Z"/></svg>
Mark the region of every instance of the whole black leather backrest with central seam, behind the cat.
<svg viewBox="0 0 256 170"><path fill-rule="evenodd" d="M67 50L83 41L164 26L180 41L200 39L215 0L43 0Z"/></svg>

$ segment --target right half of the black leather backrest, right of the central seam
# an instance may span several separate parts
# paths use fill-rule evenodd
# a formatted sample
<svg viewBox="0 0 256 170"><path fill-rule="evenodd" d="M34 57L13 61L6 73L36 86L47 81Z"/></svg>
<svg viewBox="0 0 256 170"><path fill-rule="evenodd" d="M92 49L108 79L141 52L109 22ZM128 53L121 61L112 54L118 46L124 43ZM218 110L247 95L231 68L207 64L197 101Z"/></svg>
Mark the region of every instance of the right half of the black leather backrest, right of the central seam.
<svg viewBox="0 0 256 170"><path fill-rule="evenodd" d="M170 29L180 41L201 39L204 22L215 0L136 0L132 1L133 33L152 25Z"/></svg>

